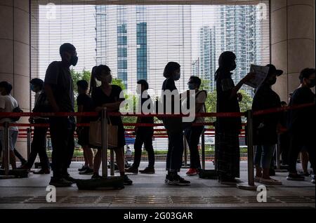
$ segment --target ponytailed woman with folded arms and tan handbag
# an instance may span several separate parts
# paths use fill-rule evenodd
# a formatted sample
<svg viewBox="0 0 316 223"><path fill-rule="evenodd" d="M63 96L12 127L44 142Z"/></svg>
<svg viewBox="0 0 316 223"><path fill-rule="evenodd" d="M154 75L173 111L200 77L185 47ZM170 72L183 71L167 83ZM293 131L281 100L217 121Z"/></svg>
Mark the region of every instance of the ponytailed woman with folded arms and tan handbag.
<svg viewBox="0 0 316 223"><path fill-rule="evenodd" d="M96 86L96 80L101 81L101 86ZM93 104L96 107L96 112L101 112L105 107L107 112L119 112L121 102L125 99L120 98L121 87L111 84L112 75L111 70L106 65L99 65L96 69L94 76L91 76L91 98ZM121 121L121 116L110 116L109 117L112 125L117 126L117 147L110 148L114 149L117 166L119 168L119 173L121 177L124 177L124 184L131 185L133 181L125 175L125 162L124 162L124 146L125 142L125 130L123 122ZM102 148L98 148L96 156L93 160L93 176L92 179L99 178L100 163L102 161Z"/></svg>

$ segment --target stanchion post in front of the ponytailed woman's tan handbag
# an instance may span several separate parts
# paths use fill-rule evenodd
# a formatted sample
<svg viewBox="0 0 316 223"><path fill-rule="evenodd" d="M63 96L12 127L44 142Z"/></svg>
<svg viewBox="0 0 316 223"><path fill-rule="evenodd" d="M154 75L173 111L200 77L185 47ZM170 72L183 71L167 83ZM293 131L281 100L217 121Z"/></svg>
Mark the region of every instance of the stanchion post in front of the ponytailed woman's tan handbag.
<svg viewBox="0 0 316 223"><path fill-rule="evenodd" d="M102 110L101 116L101 145L102 145L102 176L107 177L107 109Z"/></svg>

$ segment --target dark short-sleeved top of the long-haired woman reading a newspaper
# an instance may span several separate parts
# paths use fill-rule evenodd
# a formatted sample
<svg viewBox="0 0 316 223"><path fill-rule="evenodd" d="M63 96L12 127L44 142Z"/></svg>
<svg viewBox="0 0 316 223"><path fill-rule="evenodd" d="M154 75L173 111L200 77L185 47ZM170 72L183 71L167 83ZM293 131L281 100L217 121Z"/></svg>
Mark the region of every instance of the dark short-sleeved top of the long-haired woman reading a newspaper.
<svg viewBox="0 0 316 223"><path fill-rule="evenodd" d="M231 73L219 74L216 79L216 112L240 112L237 95L232 95L235 83L232 81ZM217 117L216 131L218 132L240 132L242 129L242 119L240 117Z"/></svg>

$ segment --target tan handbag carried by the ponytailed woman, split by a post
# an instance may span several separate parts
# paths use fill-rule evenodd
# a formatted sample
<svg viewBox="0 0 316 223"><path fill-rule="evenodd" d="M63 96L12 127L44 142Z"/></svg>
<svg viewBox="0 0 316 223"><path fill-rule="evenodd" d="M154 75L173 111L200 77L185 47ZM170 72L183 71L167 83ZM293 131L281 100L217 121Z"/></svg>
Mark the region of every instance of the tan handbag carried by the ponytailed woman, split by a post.
<svg viewBox="0 0 316 223"><path fill-rule="evenodd" d="M110 119L109 119L110 120ZM89 144L92 147L102 147L102 122L101 119L98 121L91 121L89 128ZM107 147L117 147L117 130L118 126L113 126L111 121L107 122Z"/></svg>

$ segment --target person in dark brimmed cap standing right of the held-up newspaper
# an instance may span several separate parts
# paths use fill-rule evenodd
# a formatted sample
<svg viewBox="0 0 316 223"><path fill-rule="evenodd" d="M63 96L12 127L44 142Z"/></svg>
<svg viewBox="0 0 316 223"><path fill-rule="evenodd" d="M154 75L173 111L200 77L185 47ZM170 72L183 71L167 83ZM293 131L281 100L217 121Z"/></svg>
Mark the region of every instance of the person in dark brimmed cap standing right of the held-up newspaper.
<svg viewBox="0 0 316 223"><path fill-rule="evenodd" d="M269 67L268 75L254 95L252 103L254 112L281 107L279 95L272 90L272 86L277 82L277 76L282 75L283 71L276 69L274 65L267 65L266 67ZM282 184L282 182L270 177L270 165L275 151L275 144L277 144L277 129L281 126L281 121L281 113L254 116L255 182L270 185Z"/></svg>

